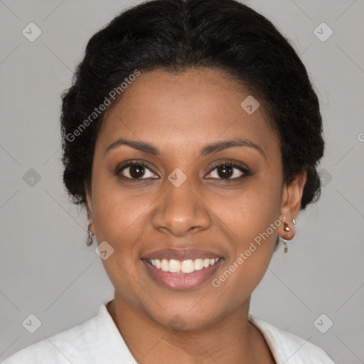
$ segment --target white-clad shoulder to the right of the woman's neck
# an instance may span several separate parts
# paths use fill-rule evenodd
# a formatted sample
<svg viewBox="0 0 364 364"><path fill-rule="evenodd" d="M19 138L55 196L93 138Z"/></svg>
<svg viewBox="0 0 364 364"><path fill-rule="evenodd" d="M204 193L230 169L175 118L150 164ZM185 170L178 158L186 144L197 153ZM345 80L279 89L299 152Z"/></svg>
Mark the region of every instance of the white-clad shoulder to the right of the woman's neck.
<svg viewBox="0 0 364 364"><path fill-rule="evenodd" d="M267 321L249 315L253 323L264 336L277 363L287 364L335 364L326 352L309 342L308 339L282 330Z"/></svg>

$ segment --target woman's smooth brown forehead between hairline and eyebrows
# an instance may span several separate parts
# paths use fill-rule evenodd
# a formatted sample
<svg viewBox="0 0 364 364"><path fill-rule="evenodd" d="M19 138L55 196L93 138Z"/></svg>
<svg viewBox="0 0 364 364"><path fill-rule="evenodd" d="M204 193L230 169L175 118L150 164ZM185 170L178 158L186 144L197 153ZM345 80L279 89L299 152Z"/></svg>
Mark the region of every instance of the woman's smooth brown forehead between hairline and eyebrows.
<svg viewBox="0 0 364 364"><path fill-rule="evenodd" d="M262 146L265 154L277 153L262 103L252 114L241 106L244 100L254 102L251 97L219 70L141 73L105 115L97 144L106 149L117 137L127 137L181 152L241 137Z"/></svg>

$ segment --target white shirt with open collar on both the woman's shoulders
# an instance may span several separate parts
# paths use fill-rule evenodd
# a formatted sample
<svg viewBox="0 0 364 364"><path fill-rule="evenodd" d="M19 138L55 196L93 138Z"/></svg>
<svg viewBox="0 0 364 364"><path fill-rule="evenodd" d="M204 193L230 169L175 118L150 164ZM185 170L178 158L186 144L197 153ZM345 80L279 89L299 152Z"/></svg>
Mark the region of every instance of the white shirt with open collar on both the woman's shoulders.
<svg viewBox="0 0 364 364"><path fill-rule="evenodd" d="M277 364L335 364L318 346L249 315L262 332ZM106 304L81 325L23 348L2 364L137 364Z"/></svg>

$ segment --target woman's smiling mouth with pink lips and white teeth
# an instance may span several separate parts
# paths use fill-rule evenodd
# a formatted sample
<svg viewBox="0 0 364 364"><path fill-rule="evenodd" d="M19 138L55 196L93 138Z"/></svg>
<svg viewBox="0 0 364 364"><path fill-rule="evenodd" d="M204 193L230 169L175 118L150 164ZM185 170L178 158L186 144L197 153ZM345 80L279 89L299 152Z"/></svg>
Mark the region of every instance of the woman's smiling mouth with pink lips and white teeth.
<svg viewBox="0 0 364 364"><path fill-rule="evenodd" d="M223 261L202 250L159 250L142 258L149 276L162 287L178 291L196 289L207 282Z"/></svg>

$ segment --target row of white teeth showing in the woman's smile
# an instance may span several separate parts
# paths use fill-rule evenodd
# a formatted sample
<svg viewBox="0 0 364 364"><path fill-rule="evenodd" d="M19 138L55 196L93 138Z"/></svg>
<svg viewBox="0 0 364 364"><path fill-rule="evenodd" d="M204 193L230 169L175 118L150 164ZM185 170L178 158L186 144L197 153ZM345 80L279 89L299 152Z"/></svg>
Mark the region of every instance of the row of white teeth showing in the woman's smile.
<svg viewBox="0 0 364 364"><path fill-rule="evenodd" d="M198 258L198 259L186 259L186 260L176 260L176 259L149 259L149 262L154 267L163 270L164 272L171 273L192 273L196 270L201 270L203 268L208 268L210 265L218 262L219 258L208 259L208 258Z"/></svg>

